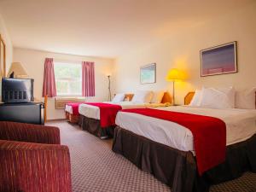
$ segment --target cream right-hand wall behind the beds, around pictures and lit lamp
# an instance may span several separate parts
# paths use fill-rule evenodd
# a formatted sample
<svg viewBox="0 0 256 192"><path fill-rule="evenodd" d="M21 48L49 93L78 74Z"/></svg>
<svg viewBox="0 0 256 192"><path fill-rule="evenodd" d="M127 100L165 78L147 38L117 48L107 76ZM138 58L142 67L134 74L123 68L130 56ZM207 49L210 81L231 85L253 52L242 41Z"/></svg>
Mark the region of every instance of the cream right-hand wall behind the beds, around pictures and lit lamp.
<svg viewBox="0 0 256 192"><path fill-rule="evenodd" d="M183 103L188 91L205 86L234 85L243 89L256 85L256 3L229 15L217 15L214 20L183 28L178 33L162 34L158 44L137 48L116 61L116 91L160 90L172 92L166 82L167 71L177 67L187 73L187 79L177 82L177 103ZM237 41L238 73L201 78L200 50ZM156 84L140 84L140 67L156 62Z"/></svg>

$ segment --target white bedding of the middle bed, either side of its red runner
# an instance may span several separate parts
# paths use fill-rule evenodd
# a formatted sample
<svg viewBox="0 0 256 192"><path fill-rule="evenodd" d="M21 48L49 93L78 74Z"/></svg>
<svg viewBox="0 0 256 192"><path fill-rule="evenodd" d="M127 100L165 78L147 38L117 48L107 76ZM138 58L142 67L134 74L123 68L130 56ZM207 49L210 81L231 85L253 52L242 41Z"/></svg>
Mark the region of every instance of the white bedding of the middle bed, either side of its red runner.
<svg viewBox="0 0 256 192"><path fill-rule="evenodd" d="M146 108L150 107L149 103L137 103L137 102L105 102L109 104L120 105L123 109L126 108ZM153 105L153 104L152 104ZM154 103L154 105L156 105ZM163 104L159 104L162 106ZM154 106L156 107L156 106ZM79 105L79 113L84 115L85 117L92 119L100 119L100 108L88 104L80 104Z"/></svg>

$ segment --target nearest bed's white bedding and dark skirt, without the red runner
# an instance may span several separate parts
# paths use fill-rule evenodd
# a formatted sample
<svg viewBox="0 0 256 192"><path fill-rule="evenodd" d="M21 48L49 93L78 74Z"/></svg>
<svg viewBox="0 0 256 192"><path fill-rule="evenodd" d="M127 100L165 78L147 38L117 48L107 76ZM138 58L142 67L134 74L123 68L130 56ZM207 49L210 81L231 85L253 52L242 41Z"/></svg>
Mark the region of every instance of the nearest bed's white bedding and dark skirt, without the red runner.
<svg viewBox="0 0 256 192"><path fill-rule="evenodd" d="M186 127L138 113L119 112L113 151L122 154L145 172L152 173L172 192L208 191L209 186L247 170L256 172L256 110L212 109L188 106L160 108L173 112L216 117L226 125L226 158L198 173L194 138Z"/></svg>

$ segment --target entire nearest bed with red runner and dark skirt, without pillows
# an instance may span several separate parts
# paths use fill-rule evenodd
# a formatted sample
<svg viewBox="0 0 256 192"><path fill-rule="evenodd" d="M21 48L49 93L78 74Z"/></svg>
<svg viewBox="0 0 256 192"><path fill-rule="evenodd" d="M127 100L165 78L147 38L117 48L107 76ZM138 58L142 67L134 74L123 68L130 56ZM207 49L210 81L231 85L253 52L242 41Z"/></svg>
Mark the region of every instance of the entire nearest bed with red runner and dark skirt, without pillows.
<svg viewBox="0 0 256 192"><path fill-rule="evenodd" d="M208 191L256 172L255 120L255 109L125 109L116 117L113 151L172 192Z"/></svg>

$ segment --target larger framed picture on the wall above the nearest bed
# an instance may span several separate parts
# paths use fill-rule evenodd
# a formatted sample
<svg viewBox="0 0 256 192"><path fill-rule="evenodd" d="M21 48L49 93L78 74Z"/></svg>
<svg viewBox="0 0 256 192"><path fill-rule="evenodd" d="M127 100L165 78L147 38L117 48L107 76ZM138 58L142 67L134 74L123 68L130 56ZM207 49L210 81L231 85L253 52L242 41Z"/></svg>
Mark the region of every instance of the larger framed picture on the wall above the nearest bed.
<svg viewBox="0 0 256 192"><path fill-rule="evenodd" d="M201 77L237 73L236 41L222 44L201 53Z"/></svg>

